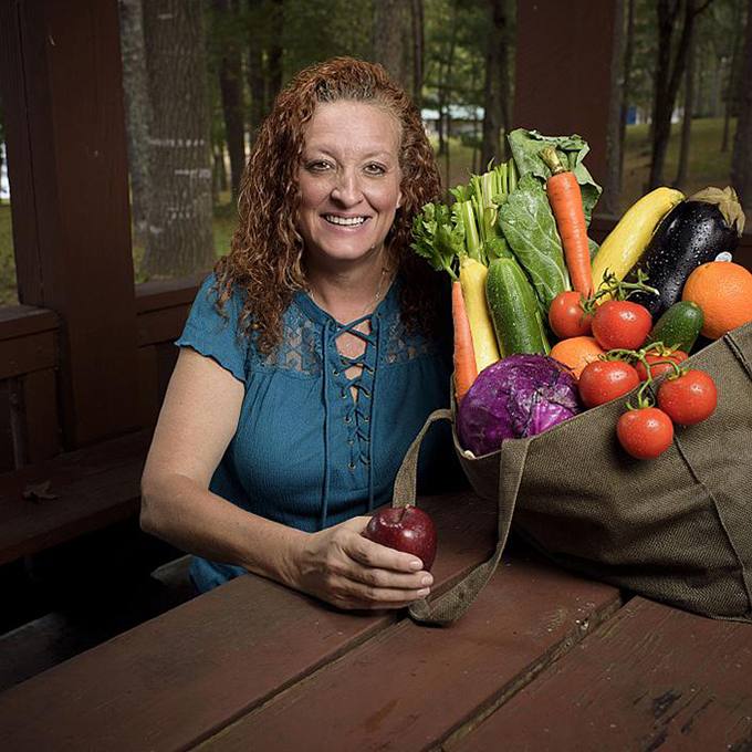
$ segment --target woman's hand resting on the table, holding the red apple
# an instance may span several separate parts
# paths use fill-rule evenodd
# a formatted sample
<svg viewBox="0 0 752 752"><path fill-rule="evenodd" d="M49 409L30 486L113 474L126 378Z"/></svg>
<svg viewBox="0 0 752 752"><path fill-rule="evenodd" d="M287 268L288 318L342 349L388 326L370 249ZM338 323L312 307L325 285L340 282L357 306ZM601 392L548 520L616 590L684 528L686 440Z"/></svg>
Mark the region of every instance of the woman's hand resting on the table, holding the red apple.
<svg viewBox="0 0 752 752"><path fill-rule="evenodd" d="M295 555L297 589L338 608L401 608L425 598L434 577L422 562L363 537L368 520L310 533Z"/></svg>

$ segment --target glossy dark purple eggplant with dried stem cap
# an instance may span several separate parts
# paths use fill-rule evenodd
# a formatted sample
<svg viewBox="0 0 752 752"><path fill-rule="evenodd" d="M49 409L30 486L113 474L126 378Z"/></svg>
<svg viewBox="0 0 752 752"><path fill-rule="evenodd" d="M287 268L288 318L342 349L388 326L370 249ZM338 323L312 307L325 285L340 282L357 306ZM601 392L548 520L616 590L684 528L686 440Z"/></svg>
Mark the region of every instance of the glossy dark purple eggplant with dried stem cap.
<svg viewBox="0 0 752 752"><path fill-rule="evenodd" d="M639 263L659 294L638 291L629 300L657 320L681 300L685 282L700 264L720 253L733 258L743 227L744 215L732 188L706 188L677 205L658 226Z"/></svg>

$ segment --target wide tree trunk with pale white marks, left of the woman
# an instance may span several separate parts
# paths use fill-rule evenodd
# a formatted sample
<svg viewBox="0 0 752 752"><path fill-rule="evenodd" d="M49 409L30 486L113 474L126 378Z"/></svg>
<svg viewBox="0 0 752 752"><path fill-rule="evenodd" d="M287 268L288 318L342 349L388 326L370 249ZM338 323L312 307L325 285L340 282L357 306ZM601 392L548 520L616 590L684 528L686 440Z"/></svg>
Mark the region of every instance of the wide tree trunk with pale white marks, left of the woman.
<svg viewBox="0 0 752 752"><path fill-rule="evenodd" d="M144 40L153 105L144 271L186 275L216 258L201 0L148 0Z"/></svg>

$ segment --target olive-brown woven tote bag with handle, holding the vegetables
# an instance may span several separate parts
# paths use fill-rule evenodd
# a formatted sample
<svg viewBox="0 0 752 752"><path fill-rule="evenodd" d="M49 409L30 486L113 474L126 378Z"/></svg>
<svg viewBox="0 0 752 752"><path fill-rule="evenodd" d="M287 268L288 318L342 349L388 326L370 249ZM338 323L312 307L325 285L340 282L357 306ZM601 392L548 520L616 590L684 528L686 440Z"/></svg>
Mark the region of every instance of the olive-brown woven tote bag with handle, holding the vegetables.
<svg viewBox="0 0 752 752"><path fill-rule="evenodd" d="M693 355L718 387L706 421L677 427L654 460L619 447L627 397L478 459L455 446L474 491L499 503L491 558L447 593L416 602L418 622L457 619L495 571L510 525L558 564L639 595L713 618L752 623L752 324ZM394 505L415 503L420 442L405 456ZM440 541L439 541L439 555Z"/></svg>

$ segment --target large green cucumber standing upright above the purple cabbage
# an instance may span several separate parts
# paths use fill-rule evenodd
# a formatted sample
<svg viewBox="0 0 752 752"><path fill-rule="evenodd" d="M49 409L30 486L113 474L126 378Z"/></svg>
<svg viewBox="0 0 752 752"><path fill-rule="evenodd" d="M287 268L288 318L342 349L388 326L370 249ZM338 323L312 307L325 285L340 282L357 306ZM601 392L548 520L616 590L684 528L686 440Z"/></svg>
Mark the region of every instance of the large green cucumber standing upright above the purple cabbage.
<svg viewBox="0 0 752 752"><path fill-rule="evenodd" d="M485 300L504 357L514 353L550 352L545 330L540 315L536 315L535 293L514 259L491 262L485 280Z"/></svg>

